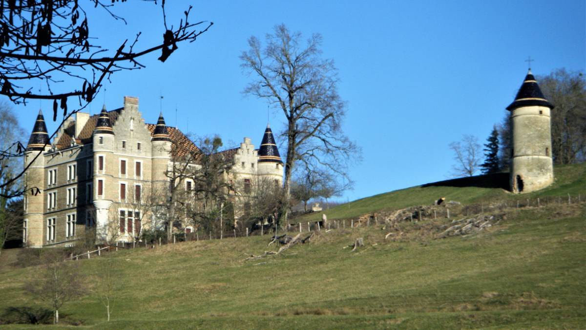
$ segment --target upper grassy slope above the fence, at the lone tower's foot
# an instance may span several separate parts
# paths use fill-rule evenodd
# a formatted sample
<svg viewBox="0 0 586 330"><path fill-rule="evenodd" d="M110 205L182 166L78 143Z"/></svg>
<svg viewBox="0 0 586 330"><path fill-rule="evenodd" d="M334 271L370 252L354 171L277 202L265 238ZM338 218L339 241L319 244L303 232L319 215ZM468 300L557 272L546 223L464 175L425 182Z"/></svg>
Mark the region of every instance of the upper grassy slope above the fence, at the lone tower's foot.
<svg viewBox="0 0 586 330"><path fill-rule="evenodd" d="M432 204L440 197L459 201L464 204L488 203L495 200L515 200L515 198L533 198L546 196L563 196L570 193L586 196L586 163L556 166L554 168L555 183L550 187L529 194L517 195L509 193L509 174L499 173L488 176L476 176L465 179L446 180L424 184L390 193L362 198L350 203L332 207L323 211L328 219L344 219L379 211L396 210L421 204ZM292 221L308 221L321 219L322 212L305 214Z"/></svg>

